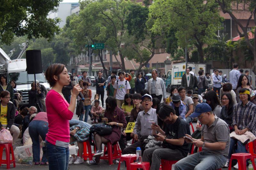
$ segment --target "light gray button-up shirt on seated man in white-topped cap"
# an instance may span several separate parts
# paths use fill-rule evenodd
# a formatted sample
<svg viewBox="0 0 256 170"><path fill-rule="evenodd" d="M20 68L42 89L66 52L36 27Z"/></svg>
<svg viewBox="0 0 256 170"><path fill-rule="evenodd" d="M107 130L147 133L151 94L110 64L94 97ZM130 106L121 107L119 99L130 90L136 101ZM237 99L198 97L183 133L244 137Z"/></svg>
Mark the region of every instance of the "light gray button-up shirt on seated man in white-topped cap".
<svg viewBox="0 0 256 170"><path fill-rule="evenodd" d="M148 122L149 119L153 119L154 122L157 123L156 109L150 108L147 113L145 113L144 110L138 113L138 117L133 128L134 134L138 134L138 131L140 129L141 136L152 136L152 123Z"/></svg>

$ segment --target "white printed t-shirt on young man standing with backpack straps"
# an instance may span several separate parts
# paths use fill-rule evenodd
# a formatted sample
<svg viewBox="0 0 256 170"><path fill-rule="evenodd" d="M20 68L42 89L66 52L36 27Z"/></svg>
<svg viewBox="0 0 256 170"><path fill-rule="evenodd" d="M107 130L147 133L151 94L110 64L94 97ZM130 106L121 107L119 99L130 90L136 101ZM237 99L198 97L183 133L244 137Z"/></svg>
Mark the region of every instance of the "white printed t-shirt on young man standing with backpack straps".
<svg viewBox="0 0 256 170"><path fill-rule="evenodd" d="M116 85L116 82L114 84L114 89L116 89L116 99L118 100L124 100L124 95L126 94L126 90L127 89L131 89L131 86L130 86L130 83L129 81L127 80L126 82L126 85L125 85L125 81L121 81L121 80L118 80L118 83Z"/></svg>

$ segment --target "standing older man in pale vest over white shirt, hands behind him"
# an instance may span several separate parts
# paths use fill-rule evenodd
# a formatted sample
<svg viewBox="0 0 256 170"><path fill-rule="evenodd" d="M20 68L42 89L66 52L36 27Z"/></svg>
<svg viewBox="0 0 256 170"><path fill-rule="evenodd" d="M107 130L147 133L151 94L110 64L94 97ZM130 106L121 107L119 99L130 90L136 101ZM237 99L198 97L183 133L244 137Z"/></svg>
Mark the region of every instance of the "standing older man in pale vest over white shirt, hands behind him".
<svg viewBox="0 0 256 170"><path fill-rule="evenodd" d="M147 90L152 98L157 98L161 102L164 96L164 102L166 101L166 89L164 85L164 80L157 77L157 70L153 69L151 71L152 78L148 80Z"/></svg>

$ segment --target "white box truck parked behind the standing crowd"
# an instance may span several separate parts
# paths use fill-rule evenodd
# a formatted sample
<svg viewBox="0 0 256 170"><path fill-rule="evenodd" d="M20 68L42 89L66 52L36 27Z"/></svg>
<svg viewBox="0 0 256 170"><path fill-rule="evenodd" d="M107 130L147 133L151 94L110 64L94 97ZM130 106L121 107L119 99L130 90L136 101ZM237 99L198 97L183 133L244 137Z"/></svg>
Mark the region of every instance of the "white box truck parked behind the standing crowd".
<svg viewBox="0 0 256 170"><path fill-rule="evenodd" d="M181 78L183 74L186 73L186 68L192 67L192 71L198 75L199 70L206 69L206 64L204 63L177 63L172 64L172 70L168 70L167 75L171 76L170 88L172 86L179 87L181 85ZM168 89L168 87L167 87Z"/></svg>

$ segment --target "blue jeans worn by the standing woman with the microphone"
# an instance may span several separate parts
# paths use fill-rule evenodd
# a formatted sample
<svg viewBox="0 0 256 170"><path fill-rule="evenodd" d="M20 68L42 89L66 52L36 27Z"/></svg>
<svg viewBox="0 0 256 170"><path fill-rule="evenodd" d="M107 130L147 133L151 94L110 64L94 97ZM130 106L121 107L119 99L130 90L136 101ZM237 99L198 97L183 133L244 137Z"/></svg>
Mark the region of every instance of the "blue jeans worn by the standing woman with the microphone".
<svg viewBox="0 0 256 170"><path fill-rule="evenodd" d="M45 140L47 159L49 163L49 170L68 170L69 148L55 146Z"/></svg>

